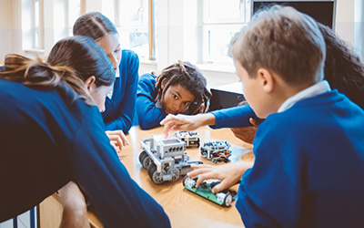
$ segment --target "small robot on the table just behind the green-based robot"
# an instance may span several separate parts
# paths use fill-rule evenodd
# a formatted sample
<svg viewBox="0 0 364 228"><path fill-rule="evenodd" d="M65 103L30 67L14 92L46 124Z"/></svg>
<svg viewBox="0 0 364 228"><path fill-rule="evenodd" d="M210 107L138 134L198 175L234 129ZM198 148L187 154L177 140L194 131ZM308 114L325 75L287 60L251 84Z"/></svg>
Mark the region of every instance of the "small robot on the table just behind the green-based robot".
<svg viewBox="0 0 364 228"><path fill-rule="evenodd" d="M228 161L227 158L231 155L230 147L231 145L227 141L208 141L204 142L200 151L202 157L216 164L217 161Z"/></svg>

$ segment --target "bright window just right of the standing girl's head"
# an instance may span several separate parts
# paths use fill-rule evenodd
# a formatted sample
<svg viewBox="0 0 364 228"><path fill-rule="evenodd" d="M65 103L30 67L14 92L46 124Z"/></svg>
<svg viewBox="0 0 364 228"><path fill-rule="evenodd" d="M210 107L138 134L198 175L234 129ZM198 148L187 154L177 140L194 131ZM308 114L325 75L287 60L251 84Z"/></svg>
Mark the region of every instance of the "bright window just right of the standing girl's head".
<svg viewBox="0 0 364 228"><path fill-rule="evenodd" d="M155 8L157 0L116 0L114 21L123 48L140 58L156 59ZM107 15L107 14L106 14Z"/></svg>

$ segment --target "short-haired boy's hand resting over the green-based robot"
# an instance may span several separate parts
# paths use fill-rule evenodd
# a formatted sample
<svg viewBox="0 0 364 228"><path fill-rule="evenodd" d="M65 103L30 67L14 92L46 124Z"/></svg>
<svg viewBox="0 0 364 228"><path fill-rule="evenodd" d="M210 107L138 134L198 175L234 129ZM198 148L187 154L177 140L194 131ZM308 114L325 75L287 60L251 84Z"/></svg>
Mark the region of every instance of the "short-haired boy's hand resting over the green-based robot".
<svg viewBox="0 0 364 228"><path fill-rule="evenodd" d="M253 161L238 161L235 163L218 166L192 164L191 167L195 170L188 172L187 175L190 178L198 177L196 182L197 188L202 181L208 179L220 180L221 182L211 190L212 192L216 193L228 189L229 187L236 184L244 172L252 166Z"/></svg>

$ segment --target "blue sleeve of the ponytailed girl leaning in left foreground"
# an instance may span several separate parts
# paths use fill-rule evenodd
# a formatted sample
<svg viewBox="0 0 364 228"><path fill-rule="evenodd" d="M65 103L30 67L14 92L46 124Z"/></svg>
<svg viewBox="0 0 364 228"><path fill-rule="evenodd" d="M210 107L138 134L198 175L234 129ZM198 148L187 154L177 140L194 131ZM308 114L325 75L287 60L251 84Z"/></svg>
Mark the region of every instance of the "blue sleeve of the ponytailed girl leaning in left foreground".
<svg viewBox="0 0 364 228"><path fill-rule="evenodd" d="M75 141L68 153L72 168L105 227L170 227L163 208L118 159L96 108L84 118Z"/></svg>

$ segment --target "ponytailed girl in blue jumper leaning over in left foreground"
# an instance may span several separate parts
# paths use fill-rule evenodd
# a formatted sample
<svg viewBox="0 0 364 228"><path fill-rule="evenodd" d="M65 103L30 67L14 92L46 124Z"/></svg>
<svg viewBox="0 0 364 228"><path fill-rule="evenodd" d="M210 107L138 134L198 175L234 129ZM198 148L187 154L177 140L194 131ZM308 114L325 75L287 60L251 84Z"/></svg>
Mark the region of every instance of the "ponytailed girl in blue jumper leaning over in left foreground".
<svg viewBox="0 0 364 228"><path fill-rule="evenodd" d="M114 80L111 62L85 36L59 41L46 63L5 57L0 222L76 180L106 227L170 226L160 205L130 178L105 134L99 111Z"/></svg>

